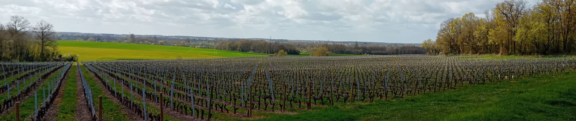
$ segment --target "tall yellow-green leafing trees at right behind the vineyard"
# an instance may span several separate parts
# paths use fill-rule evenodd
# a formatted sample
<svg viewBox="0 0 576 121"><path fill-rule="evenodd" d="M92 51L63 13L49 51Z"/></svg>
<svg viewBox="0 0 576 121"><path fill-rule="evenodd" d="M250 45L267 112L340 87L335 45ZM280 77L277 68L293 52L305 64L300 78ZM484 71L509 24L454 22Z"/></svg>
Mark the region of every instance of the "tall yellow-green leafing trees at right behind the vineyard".
<svg viewBox="0 0 576 121"><path fill-rule="evenodd" d="M486 17L474 13L442 22L429 54L569 54L576 42L576 0L499 2Z"/></svg>

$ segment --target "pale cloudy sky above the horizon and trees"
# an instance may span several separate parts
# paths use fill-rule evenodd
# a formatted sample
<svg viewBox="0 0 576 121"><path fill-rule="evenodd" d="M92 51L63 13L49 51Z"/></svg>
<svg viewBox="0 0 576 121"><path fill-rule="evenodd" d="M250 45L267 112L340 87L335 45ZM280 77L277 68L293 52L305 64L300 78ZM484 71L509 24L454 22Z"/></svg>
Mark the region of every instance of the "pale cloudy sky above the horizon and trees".
<svg viewBox="0 0 576 121"><path fill-rule="evenodd" d="M448 18L502 0L0 0L56 32L420 43ZM533 5L538 0L528 0Z"/></svg>

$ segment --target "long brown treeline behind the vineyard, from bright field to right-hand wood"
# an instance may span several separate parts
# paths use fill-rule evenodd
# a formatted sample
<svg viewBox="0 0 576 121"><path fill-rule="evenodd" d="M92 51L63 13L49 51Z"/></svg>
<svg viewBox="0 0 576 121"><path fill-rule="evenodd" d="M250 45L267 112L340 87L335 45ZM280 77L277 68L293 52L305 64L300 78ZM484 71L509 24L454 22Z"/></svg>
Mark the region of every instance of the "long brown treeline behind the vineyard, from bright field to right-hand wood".
<svg viewBox="0 0 576 121"><path fill-rule="evenodd" d="M216 49L238 52L276 53L285 50L288 54L316 53L314 55L335 54L425 54L421 46L384 46L377 44L314 44L304 42L267 42L264 40L227 40L216 44ZM317 50L321 51L317 51ZM324 51L323 49L327 49Z"/></svg>

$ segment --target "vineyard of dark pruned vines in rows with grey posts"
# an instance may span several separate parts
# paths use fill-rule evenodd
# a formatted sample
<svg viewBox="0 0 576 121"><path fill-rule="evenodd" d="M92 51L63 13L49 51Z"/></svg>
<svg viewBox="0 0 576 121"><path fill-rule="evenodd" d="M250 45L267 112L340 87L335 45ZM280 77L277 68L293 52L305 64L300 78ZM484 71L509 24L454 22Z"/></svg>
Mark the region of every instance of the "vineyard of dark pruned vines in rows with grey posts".
<svg viewBox="0 0 576 121"><path fill-rule="evenodd" d="M415 55L2 63L0 120L251 119L574 69L573 57Z"/></svg>

